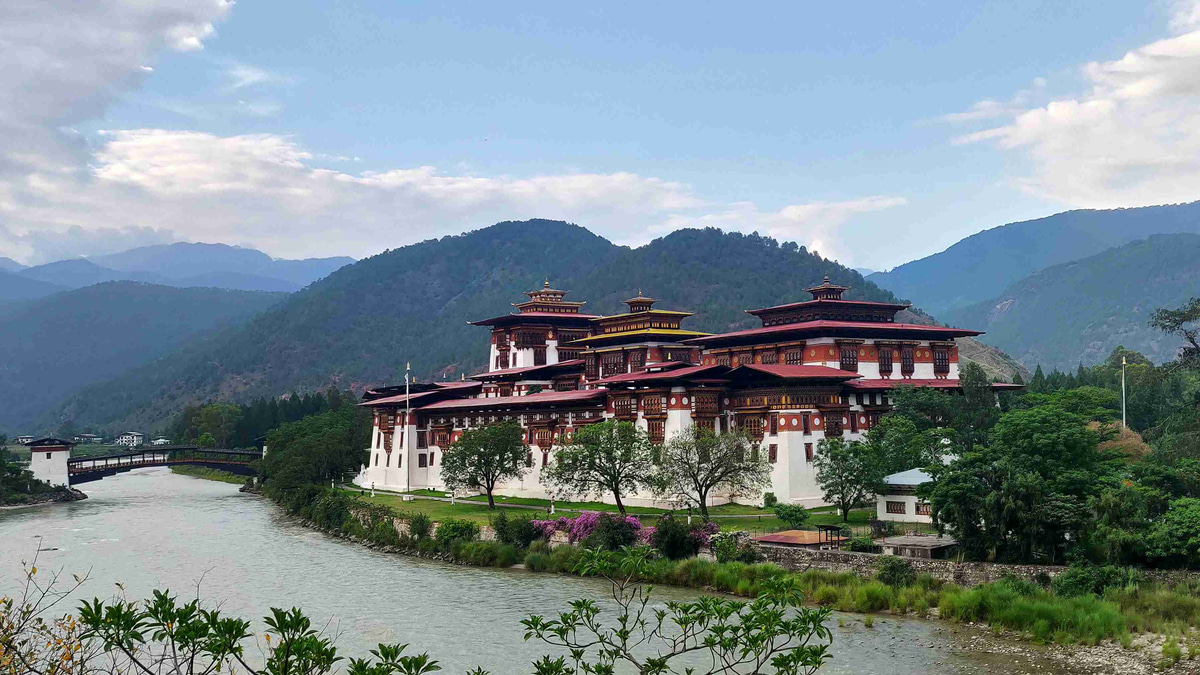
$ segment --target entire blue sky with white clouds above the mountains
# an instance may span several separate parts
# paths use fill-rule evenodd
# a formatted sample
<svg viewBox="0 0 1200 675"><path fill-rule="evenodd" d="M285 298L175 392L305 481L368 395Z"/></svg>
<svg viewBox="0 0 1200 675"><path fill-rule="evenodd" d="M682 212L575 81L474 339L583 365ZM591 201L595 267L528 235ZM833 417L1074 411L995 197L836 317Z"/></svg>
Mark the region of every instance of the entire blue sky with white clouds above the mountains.
<svg viewBox="0 0 1200 675"><path fill-rule="evenodd" d="M0 256L502 220L888 269L1200 199L1200 0L0 4Z"/></svg>

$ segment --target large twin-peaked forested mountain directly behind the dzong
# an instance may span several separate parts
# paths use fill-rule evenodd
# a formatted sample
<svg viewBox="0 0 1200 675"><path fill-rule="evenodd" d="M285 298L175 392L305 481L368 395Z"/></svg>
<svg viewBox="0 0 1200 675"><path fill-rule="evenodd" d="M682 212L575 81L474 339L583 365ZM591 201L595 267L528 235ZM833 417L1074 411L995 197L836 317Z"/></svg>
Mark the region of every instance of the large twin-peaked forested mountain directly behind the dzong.
<svg viewBox="0 0 1200 675"><path fill-rule="evenodd" d="M757 234L684 229L630 249L565 222L502 222L343 267L240 325L84 387L37 419L42 428L66 419L150 428L206 400L396 382L406 363L424 380L457 378L485 368L487 354L487 330L467 322L506 313L547 279L593 313L620 311L642 291L658 306L695 311L689 328L724 331L756 325L746 309L806 298L826 275L851 287L848 299L896 301L834 261ZM994 372L1012 376L1012 362L978 350L991 354Z"/></svg>

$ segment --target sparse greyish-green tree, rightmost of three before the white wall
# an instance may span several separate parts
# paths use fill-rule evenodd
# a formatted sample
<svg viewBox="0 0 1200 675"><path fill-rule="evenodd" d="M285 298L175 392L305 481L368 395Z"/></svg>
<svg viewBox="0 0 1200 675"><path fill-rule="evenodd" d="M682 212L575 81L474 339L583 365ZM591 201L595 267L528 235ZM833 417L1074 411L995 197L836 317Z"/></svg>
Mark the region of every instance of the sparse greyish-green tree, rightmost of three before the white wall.
<svg viewBox="0 0 1200 675"><path fill-rule="evenodd" d="M757 496L770 484L770 465L757 448L745 434L714 435L691 425L662 446L654 492L696 506L708 518L709 495Z"/></svg>

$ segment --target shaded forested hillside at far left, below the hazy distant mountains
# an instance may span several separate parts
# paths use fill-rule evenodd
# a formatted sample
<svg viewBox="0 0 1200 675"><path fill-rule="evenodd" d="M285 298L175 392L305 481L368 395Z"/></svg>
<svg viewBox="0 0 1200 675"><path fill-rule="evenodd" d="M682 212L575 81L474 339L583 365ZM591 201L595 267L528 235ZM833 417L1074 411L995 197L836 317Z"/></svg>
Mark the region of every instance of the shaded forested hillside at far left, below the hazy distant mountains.
<svg viewBox="0 0 1200 675"><path fill-rule="evenodd" d="M0 431L34 432L29 423L79 387L151 363L282 298L114 281L28 304L0 318ZM103 387L94 392L131 395Z"/></svg>

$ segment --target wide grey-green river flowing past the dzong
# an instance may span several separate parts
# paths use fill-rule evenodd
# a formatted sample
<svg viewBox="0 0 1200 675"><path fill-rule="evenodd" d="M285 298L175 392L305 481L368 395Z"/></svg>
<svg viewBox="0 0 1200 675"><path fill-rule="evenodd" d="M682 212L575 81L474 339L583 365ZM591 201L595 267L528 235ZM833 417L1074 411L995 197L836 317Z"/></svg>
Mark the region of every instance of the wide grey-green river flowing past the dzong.
<svg viewBox="0 0 1200 675"><path fill-rule="evenodd" d="M445 673L482 665L494 675L517 675L552 651L522 640L522 617L554 614L570 599L606 591L593 579L372 551L298 525L236 485L167 468L118 474L88 484L86 492L80 502L0 510L0 595L18 590L22 560L41 543L41 569L89 574L80 597L110 597L120 583L130 597L170 589L186 598L199 583L204 598L220 601L233 615L302 608L316 626L328 621L340 634L342 655L367 656L377 643L403 641L410 651L428 651ZM664 598L690 593L655 592ZM866 628L859 616L839 617L846 626L832 626L834 659L822 673L1062 671L1038 657L968 650L970 629L937 621L877 616Z"/></svg>

